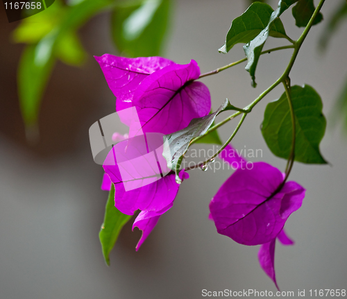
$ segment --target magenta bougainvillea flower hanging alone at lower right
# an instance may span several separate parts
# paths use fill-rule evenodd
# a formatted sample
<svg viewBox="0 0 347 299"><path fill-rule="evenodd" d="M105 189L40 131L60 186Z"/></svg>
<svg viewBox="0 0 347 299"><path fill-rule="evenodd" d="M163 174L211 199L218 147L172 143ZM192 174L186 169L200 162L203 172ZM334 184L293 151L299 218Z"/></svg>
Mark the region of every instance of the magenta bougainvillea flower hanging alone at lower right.
<svg viewBox="0 0 347 299"><path fill-rule="evenodd" d="M241 161L242 157L228 160L228 147L221 153L223 160ZM238 168L223 183L210 203L210 219L217 231L244 245L259 245L260 266L276 284L274 268L276 238L283 245L294 244L283 227L292 212L301 207L305 189L296 182L285 182L283 173L264 162L254 162L252 168ZM275 193L276 192L276 193Z"/></svg>

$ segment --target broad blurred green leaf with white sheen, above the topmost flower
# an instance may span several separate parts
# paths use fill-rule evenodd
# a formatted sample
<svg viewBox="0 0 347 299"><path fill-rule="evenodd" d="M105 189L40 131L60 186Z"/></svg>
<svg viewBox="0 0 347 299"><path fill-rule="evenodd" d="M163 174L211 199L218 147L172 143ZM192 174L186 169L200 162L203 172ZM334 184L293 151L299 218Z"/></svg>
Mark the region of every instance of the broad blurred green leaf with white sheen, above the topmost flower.
<svg viewBox="0 0 347 299"><path fill-rule="evenodd" d="M129 57L160 55L169 12L169 0L142 0L116 6L111 27L117 49Z"/></svg>

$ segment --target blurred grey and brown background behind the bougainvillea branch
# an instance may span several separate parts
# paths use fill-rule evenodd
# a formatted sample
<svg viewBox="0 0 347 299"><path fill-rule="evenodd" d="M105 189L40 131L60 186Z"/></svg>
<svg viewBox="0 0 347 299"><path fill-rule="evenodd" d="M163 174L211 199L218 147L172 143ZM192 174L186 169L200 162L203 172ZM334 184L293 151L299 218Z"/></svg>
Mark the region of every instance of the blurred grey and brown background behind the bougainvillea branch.
<svg viewBox="0 0 347 299"><path fill-rule="evenodd" d="M325 1L327 19L341 1ZM271 1L276 6L276 1ZM245 9L243 0L179 0L174 5L166 56L185 64L194 59L210 71L244 57L237 45L218 53L230 22ZM108 193L100 190L103 169L94 164L88 128L114 112L115 98L97 63L82 69L58 63L44 96L40 143L28 146L16 94L16 68L22 45L9 41L17 24L8 24L0 8L0 298L201 298L201 290L276 291L257 262L258 246L236 244L217 234L208 220L208 203L231 171L200 171L180 187L174 207L165 213L138 253L140 237L126 225L105 266L98 232ZM289 36L291 12L281 17ZM90 55L115 53L109 15L92 19L82 30ZM314 26L291 71L292 84L312 85L329 116L346 76L347 24L332 38L327 53L316 46L323 24ZM266 49L285 44L271 39ZM243 107L282 74L291 50L263 55L253 89L244 64L203 78L216 109L228 97ZM239 130L236 148L260 148L262 159L280 169L260 133L266 103L276 88L253 109ZM225 114L222 116L225 117ZM332 117L334 118L334 117ZM331 118L330 118L331 120ZM329 121L329 118L328 118ZM226 140L235 123L221 129ZM208 148L208 147L206 147ZM331 165L294 164L290 179L307 189L298 212L287 221L295 246L276 247L276 272L282 291L347 289L347 142L341 128L328 130L321 144Z"/></svg>

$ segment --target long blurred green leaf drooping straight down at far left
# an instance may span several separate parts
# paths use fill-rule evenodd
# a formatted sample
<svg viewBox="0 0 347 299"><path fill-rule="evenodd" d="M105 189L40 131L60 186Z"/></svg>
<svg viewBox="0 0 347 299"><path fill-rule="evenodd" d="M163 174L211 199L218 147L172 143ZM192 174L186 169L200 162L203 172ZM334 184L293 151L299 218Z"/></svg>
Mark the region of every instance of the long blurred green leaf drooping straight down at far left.
<svg viewBox="0 0 347 299"><path fill-rule="evenodd" d="M50 40L26 46L19 62L19 103L28 130L37 123L40 100L55 61L51 51Z"/></svg>

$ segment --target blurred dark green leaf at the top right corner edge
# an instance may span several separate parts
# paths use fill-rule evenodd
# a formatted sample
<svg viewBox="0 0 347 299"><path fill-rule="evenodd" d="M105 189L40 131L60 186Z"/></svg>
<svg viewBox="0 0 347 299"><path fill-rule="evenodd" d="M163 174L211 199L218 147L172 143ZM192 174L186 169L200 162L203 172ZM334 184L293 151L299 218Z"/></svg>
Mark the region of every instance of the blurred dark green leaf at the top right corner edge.
<svg viewBox="0 0 347 299"><path fill-rule="evenodd" d="M330 42L330 38L337 31L337 28L341 25L342 22L347 18L347 1L341 2L332 13L332 16L329 19L328 24L325 26L321 39L319 40L319 46L321 50L325 50Z"/></svg>

